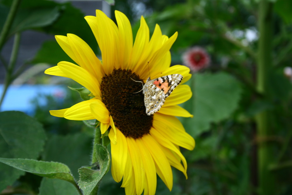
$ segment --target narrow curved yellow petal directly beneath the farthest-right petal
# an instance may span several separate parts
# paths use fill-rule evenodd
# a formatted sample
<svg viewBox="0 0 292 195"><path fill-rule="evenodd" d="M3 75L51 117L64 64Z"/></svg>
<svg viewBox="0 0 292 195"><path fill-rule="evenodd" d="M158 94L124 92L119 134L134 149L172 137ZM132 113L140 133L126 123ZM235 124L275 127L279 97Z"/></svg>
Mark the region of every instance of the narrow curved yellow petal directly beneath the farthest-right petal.
<svg viewBox="0 0 292 195"><path fill-rule="evenodd" d="M167 149L170 149L171 151L173 151L174 153L176 153L179 158L183 161L183 165L184 165L184 169L183 169L183 173L185 173L186 175L186 171L187 171L187 161L185 160L185 157L183 156L183 154L180 152L180 150L178 148L176 148L173 143L171 143L171 141L169 141L168 139L166 139L161 133L159 133L156 129L151 128L150 130L150 134L151 136L162 146L166 147ZM165 153L165 152L164 152ZM173 154L168 154L168 156L173 156ZM174 164L180 164L180 162L177 162L177 159L175 157L171 158L171 160L173 160ZM181 164L180 164L181 165ZM178 166L179 169L179 166ZM179 169L180 170L180 169ZM187 176L186 176L187 177Z"/></svg>

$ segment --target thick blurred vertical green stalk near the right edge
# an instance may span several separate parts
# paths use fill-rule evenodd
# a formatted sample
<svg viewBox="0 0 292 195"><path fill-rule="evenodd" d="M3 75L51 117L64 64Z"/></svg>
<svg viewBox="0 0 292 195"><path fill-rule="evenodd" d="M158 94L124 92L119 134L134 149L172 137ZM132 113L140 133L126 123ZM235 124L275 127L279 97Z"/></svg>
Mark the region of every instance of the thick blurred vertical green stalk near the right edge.
<svg viewBox="0 0 292 195"><path fill-rule="evenodd" d="M265 98L269 96L268 80L272 67L272 3L262 0L259 3L258 28L260 37L258 41L257 58L257 90ZM272 136L271 111L262 111L256 116L257 136L259 139ZM276 194L274 175L269 170L274 155L272 144L268 141L258 143L258 178L259 194Z"/></svg>

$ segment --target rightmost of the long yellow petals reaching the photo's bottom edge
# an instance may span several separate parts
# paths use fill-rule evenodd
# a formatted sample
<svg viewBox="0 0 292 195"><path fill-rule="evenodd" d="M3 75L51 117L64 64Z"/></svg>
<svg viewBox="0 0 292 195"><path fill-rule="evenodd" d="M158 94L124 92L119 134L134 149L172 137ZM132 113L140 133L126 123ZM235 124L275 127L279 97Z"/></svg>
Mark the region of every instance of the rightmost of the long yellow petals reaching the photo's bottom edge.
<svg viewBox="0 0 292 195"><path fill-rule="evenodd" d="M128 148L130 151L131 160L133 163L135 185L137 195L142 194L145 185L145 168L144 163L141 159L140 150L136 144L135 139L127 137Z"/></svg>

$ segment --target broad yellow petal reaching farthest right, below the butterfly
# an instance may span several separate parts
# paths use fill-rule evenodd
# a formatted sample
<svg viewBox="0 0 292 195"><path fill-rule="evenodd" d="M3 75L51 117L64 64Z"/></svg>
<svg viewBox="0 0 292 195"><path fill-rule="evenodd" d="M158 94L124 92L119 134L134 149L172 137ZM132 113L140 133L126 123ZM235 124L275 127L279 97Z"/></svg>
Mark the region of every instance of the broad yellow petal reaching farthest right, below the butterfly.
<svg viewBox="0 0 292 195"><path fill-rule="evenodd" d="M153 127L159 131L163 137L188 150L193 150L195 140L185 132L185 128L174 116L155 113L153 118Z"/></svg>

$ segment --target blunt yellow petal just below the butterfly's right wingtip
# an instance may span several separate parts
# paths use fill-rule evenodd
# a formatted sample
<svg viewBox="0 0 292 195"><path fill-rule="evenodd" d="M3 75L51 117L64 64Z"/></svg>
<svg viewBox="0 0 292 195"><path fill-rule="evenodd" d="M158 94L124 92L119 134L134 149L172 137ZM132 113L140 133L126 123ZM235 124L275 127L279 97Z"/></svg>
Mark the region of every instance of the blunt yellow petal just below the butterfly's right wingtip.
<svg viewBox="0 0 292 195"><path fill-rule="evenodd" d="M165 100L163 107L183 103L192 97L192 91L188 85L178 85Z"/></svg>

